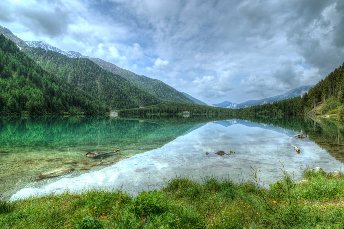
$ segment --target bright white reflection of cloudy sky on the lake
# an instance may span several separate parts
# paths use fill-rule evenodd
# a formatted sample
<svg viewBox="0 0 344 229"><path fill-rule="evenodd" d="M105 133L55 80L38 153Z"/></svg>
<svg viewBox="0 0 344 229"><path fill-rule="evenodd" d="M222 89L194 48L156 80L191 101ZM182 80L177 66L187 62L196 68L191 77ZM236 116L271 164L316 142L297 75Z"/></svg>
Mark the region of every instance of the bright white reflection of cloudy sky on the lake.
<svg viewBox="0 0 344 229"><path fill-rule="evenodd" d="M257 127L257 125L259 127ZM249 127L250 126L250 127ZM287 133L287 134L286 134ZM61 192L66 188L78 191L88 187L111 187L136 195L164 185L163 177L171 179L176 175L189 176L201 181L204 176L230 177L238 181L243 176L249 179L251 166L261 167L259 178L266 184L276 182L281 177L280 168L284 163L288 172L297 171L300 165L322 167L325 171L340 170L341 163L309 139L293 139L301 149L297 154L289 143L293 131L284 131L272 125L262 126L252 122L240 122L224 126L207 123L200 128L179 136L161 148L138 154L115 165L89 172L74 178L62 178L40 188L22 189L12 198L31 194ZM235 154L218 156L218 150L235 151ZM205 155L209 152L209 155ZM29 184L30 185L30 184ZM123 185L123 186L122 186Z"/></svg>

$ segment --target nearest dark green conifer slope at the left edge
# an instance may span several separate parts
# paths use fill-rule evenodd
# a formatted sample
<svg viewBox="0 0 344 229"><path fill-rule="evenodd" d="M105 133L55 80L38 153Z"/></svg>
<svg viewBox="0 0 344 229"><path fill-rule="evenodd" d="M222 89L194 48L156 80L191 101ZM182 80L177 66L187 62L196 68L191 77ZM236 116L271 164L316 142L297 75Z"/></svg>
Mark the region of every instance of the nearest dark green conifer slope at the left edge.
<svg viewBox="0 0 344 229"><path fill-rule="evenodd" d="M28 58L0 34L0 113L104 113L106 105Z"/></svg>

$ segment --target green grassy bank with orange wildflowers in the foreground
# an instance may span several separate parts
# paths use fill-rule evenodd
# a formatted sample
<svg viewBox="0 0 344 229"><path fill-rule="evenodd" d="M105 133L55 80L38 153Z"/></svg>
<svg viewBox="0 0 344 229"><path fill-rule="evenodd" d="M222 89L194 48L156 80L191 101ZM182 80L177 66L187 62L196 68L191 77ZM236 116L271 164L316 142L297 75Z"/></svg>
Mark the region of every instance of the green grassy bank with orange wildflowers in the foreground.
<svg viewBox="0 0 344 229"><path fill-rule="evenodd" d="M133 198L122 191L80 190L0 201L0 228L343 228L344 176L305 171L302 182L282 170L281 181L258 189L252 179L188 177ZM270 206L270 208L269 208Z"/></svg>

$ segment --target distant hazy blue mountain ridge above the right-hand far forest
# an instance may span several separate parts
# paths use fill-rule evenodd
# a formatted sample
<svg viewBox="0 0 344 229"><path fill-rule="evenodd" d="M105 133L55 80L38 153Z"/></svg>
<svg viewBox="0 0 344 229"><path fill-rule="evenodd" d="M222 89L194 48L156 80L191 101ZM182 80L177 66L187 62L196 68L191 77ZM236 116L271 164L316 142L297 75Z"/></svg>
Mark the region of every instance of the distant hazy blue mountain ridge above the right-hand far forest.
<svg viewBox="0 0 344 229"><path fill-rule="evenodd" d="M291 90L287 91L286 93L283 93L280 95L276 95L276 96L264 98L264 99L259 99L259 100L248 100L248 101L246 101L244 103L240 103L240 104L233 104L229 101L223 101L222 103L219 103L219 104L213 104L213 106L226 107L226 108L245 108L245 107L251 107L251 106L255 106L255 105L268 104L268 103L272 103L274 101L279 101L279 100L283 100L283 99L292 98L292 97L295 97L298 95L302 95L303 93L307 92L308 89L311 87L312 87L311 85L300 86L300 87L291 89Z"/></svg>

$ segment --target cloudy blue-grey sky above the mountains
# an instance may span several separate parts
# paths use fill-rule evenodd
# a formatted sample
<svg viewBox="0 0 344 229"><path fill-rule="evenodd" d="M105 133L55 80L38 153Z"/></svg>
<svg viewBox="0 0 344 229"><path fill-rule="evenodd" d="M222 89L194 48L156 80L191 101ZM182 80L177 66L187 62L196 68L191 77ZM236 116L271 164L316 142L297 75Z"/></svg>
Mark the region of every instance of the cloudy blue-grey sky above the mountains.
<svg viewBox="0 0 344 229"><path fill-rule="evenodd" d="M208 104L314 85L344 61L344 1L1 0L19 38L101 58Z"/></svg>

